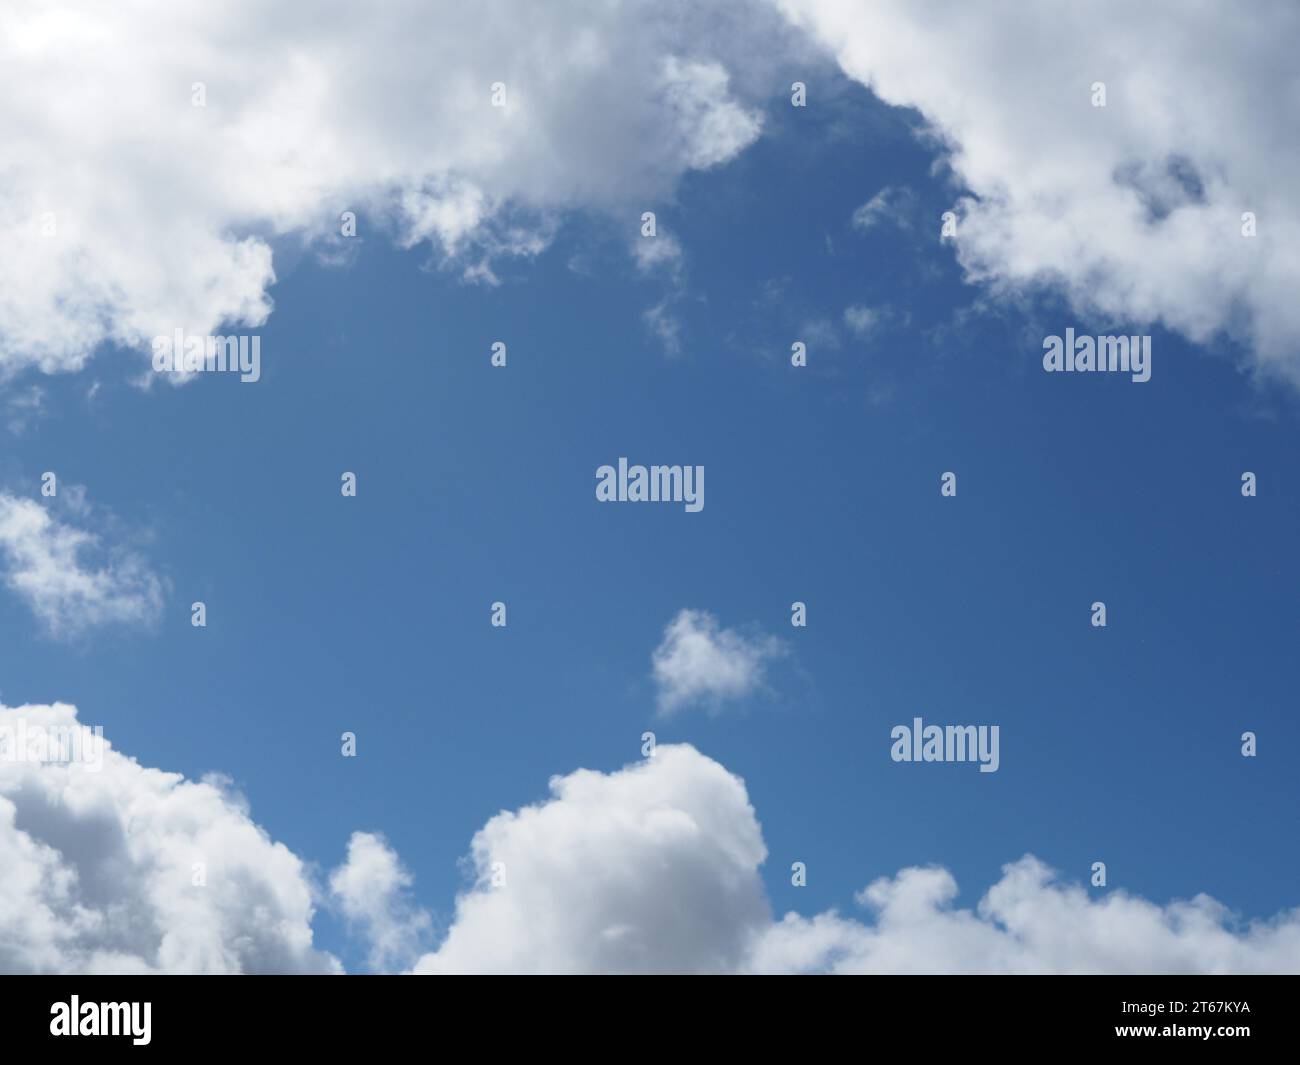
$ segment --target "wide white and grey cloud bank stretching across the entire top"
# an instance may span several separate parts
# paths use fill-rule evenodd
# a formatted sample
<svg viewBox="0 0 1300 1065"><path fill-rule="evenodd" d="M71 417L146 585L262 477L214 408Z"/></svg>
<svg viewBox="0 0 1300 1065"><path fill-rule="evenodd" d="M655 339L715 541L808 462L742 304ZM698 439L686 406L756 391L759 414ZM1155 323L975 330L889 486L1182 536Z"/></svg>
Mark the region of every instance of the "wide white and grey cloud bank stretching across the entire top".
<svg viewBox="0 0 1300 1065"><path fill-rule="evenodd" d="M79 368L104 341L256 328L273 244L346 260L346 209L363 239L430 242L489 282L567 209L618 209L634 231L682 173L759 135L772 57L803 47L777 9L926 117L970 192L954 208L971 280L1054 286L1080 315L1202 343L1223 332L1300 381L1300 146L1287 107L1258 103L1300 91L1300 13L1173 0L396 0L364 17L342 0L16 0L0 12L0 376ZM859 224L906 192L883 196Z"/></svg>

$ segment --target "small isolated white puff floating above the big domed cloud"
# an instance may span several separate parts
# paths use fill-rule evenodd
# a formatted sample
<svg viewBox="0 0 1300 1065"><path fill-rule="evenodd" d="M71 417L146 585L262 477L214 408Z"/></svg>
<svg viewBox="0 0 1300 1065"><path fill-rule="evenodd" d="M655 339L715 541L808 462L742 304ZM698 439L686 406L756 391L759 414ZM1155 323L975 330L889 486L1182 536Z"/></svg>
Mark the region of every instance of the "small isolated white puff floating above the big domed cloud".
<svg viewBox="0 0 1300 1065"><path fill-rule="evenodd" d="M651 655L659 709L671 714L692 703L710 709L763 689L767 663L784 653L772 636L722 628L703 610L682 610Z"/></svg>

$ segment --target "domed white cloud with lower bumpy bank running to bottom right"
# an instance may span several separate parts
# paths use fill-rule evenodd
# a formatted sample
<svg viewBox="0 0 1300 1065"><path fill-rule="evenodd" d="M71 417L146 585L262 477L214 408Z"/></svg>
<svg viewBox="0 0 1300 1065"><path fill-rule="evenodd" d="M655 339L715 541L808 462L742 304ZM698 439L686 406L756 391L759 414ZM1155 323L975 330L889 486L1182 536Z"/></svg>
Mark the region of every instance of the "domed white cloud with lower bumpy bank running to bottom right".
<svg viewBox="0 0 1300 1065"><path fill-rule="evenodd" d="M766 848L744 782L690 746L612 774L551 780L551 798L474 837L474 887L419 973L1282 973L1300 971L1300 910L1235 928L1201 895L1158 906L1058 883L1034 857L974 909L942 869L858 896L871 919L771 919ZM491 887L495 863L506 883Z"/></svg>

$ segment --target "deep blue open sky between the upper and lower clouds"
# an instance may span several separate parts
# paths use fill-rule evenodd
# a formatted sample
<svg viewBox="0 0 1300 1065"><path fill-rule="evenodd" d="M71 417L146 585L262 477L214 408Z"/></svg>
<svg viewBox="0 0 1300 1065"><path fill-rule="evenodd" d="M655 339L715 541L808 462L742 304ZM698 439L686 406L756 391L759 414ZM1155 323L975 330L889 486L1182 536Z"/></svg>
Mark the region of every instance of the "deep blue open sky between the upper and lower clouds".
<svg viewBox="0 0 1300 1065"><path fill-rule="evenodd" d="M1296 905L1292 386L1240 338L971 280L939 239L970 190L923 117L818 73L818 107L774 92L760 138L666 194L541 212L552 239L495 261L497 285L360 207L343 264L272 238L256 384L142 388L113 343L12 376L43 398L0 488L84 486L66 520L146 559L162 599L151 623L52 635L6 590L0 701L74 703L144 766L229 776L317 878L382 832L425 945L476 831L554 774L636 762L646 730L744 779L777 915L928 865L974 906L1026 853L1097 896ZM641 211L680 243L668 268L629 254ZM1067 326L1149 333L1150 381L1044 373ZM703 466L705 508L598 503L619 456ZM651 653L684 609L784 653L742 697L662 714ZM914 717L1000 726L998 771L892 762ZM364 967L337 909L315 928Z"/></svg>

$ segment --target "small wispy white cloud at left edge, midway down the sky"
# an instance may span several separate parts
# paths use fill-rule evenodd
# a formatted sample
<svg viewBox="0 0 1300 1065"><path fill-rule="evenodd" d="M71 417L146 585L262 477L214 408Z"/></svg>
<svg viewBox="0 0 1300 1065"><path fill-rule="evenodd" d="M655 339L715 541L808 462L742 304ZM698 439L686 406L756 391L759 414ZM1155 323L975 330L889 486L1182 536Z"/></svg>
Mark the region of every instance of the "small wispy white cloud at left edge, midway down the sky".
<svg viewBox="0 0 1300 1065"><path fill-rule="evenodd" d="M62 494L73 514L90 514L75 486ZM55 636L150 624L162 609L162 584L139 554L105 549L99 536L58 521L35 499L0 493L0 563L5 586Z"/></svg>

